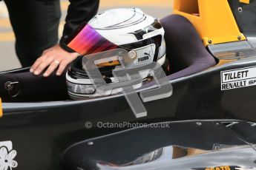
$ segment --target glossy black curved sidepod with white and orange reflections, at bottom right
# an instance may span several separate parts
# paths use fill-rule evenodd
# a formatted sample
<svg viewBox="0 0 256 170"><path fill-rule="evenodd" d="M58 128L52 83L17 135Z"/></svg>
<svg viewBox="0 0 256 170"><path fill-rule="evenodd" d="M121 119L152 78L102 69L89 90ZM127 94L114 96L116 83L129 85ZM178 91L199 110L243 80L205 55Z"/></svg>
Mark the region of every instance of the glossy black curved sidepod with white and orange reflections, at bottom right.
<svg viewBox="0 0 256 170"><path fill-rule="evenodd" d="M255 130L235 120L156 123L76 143L62 163L68 169L255 169Z"/></svg>

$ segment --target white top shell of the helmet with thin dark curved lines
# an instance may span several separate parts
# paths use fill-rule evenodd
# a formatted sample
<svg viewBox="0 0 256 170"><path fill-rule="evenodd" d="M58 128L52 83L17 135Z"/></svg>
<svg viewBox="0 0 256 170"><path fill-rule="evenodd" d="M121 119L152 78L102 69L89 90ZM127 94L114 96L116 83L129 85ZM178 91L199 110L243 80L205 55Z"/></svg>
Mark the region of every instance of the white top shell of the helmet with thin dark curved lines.
<svg viewBox="0 0 256 170"><path fill-rule="evenodd" d="M138 8L118 8L96 15L88 24L109 41L117 45L123 45L140 41L132 33L145 29L153 24L155 20L154 17L146 15ZM157 31L164 34L163 28ZM159 33L155 35L157 34ZM152 33L145 34L143 38L152 36L154 36Z"/></svg>

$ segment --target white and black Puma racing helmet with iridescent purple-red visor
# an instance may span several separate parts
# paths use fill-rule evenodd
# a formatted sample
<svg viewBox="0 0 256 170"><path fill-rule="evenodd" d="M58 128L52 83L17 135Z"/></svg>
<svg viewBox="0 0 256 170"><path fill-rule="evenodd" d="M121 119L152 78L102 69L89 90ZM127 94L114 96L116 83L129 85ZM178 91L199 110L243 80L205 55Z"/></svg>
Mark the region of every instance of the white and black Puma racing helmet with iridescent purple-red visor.
<svg viewBox="0 0 256 170"><path fill-rule="evenodd" d="M165 59L165 40L163 27L157 18L148 16L138 8L118 8L107 10L94 16L88 23L82 24L73 35L68 38L66 45L78 52L80 56L70 64L66 73L68 94L70 98L98 98L114 95L122 89L113 89L104 95L97 92L93 80L85 71L86 58L95 56L113 57L119 50L131 59L129 67L142 67L153 61L167 70L168 61ZM117 52L116 52L117 51ZM121 66L116 59L103 59L97 63L102 77L107 84L118 82L114 78L113 70ZM143 80L150 78L149 72L140 73ZM142 84L134 85L134 89Z"/></svg>

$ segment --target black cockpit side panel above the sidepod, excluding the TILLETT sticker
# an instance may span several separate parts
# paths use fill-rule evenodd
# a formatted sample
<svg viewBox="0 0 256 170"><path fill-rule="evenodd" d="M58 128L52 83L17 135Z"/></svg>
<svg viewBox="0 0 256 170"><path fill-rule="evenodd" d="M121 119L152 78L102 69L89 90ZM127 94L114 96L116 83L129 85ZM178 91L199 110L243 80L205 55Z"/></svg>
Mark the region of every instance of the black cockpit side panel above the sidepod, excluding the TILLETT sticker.
<svg viewBox="0 0 256 170"><path fill-rule="evenodd" d="M97 128L99 122L157 123L191 119L254 122L256 86L221 91L220 72L255 65L255 58L252 57L171 81L173 95L145 103L148 116L140 119L134 117L123 95L91 101L3 103L0 141L12 141L18 153L17 169L62 169L61 156L69 146L124 130ZM91 128L85 127L87 122L91 122ZM148 143L151 142L154 141L148 140ZM222 144L228 143L223 141Z"/></svg>

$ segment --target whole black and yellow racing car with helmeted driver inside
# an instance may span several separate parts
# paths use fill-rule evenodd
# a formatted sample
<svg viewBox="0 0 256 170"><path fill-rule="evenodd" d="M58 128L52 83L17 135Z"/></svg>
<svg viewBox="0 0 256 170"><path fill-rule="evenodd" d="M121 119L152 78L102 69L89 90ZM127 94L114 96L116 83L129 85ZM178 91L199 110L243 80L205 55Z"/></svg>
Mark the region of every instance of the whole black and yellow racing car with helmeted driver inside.
<svg viewBox="0 0 256 170"><path fill-rule="evenodd" d="M136 8L111 10L67 41L82 56L66 75L43 78L29 68L0 72L6 157L17 150L19 169L229 169L242 166L241 157L234 160L242 153L243 164L255 167L256 50L234 15L255 1L174 0L174 14L160 21ZM143 82L133 87L146 115L139 117L122 91L97 94L87 70L91 58L99 59L93 64L105 84L116 84L114 70L122 64L147 68L154 61L173 88L168 97L143 101L142 92L157 86L148 70L140 72ZM142 126L133 129L134 123ZM14 147L8 152L6 140ZM237 152L222 150L230 146ZM159 158L166 149L168 159ZM186 157L194 149L202 155ZM197 156L203 165L194 166Z"/></svg>

